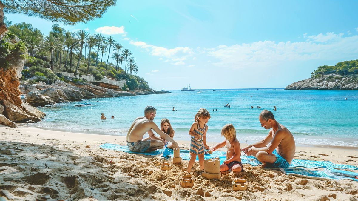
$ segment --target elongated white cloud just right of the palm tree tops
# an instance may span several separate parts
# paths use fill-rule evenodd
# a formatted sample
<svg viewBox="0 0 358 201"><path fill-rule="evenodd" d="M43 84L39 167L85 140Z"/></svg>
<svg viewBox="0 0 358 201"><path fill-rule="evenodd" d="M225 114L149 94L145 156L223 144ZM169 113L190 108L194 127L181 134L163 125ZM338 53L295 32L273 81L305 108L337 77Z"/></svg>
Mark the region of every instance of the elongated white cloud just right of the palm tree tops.
<svg viewBox="0 0 358 201"><path fill-rule="evenodd" d="M168 49L165 47L153 46L142 41L131 40L129 43L140 48L150 48L150 53L153 56L166 57L171 59L180 58L185 60L187 56L190 56L193 53L192 49L189 47L176 47Z"/></svg>

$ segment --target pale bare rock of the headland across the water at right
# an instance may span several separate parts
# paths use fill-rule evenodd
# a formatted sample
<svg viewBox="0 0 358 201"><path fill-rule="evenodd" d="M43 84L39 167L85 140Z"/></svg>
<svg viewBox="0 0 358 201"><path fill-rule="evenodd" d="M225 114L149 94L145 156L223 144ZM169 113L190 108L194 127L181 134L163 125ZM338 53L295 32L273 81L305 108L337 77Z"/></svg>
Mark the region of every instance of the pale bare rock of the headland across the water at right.
<svg viewBox="0 0 358 201"><path fill-rule="evenodd" d="M341 76L338 74L325 75L318 78L308 78L294 82L285 89L311 90L311 89L355 89L358 90L358 78L353 75Z"/></svg>

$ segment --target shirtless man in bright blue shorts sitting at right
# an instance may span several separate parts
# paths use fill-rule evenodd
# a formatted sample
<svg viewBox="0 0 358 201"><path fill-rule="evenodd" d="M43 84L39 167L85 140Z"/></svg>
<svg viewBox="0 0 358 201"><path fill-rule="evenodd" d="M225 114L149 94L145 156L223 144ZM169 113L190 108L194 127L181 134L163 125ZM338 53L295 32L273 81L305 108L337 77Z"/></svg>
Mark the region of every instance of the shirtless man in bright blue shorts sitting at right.
<svg viewBox="0 0 358 201"><path fill-rule="evenodd" d="M256 157L263 163L263 167L288 168L296 150L292 133L279 124L269 110L263 110L258 120L263 128L272 129L265 139L243 148L243 152ZM266 146L267 144L269 145Z"/></svg>

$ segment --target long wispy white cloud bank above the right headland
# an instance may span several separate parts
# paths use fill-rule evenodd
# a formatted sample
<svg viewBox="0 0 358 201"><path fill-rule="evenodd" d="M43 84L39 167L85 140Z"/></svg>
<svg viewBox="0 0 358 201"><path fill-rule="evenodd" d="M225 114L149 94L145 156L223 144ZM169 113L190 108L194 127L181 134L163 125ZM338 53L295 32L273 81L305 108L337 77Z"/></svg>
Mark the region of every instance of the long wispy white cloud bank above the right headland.
<svg viewBox="0 0 358 201"><path fill-rule="evenodd" d="M275 42L270 40L218 46L206 54L216 58L215 66L228 68L270 67L313 59L342 59L358 54L358 35L318 34L305 42Z"/></svg>

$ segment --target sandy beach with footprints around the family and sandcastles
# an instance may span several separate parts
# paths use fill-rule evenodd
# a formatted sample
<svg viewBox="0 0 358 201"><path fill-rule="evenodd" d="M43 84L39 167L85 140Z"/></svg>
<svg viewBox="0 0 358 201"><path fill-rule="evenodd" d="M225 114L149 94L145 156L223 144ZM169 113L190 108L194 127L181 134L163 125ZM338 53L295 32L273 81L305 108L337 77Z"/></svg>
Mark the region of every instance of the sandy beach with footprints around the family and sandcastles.
<svg viewBox="0 0 358 201"><path fill-rule="evenodd" d="M161 171L164 160L159 157L98 147L103 143L125 144L125 137L4 126L0 133L1 201L358 200L358 182L287 176L279 170L248 164L243 165L244 173L224 172L221 180L207 180L200 175L196 162L192 169L194 187L182 188L179 180L187 161ZM188 148L189 142L179 145ZM295 159L357 166L358 150L297 147ZM235 178L246 178L247 191L231 190Z"/></svg>

